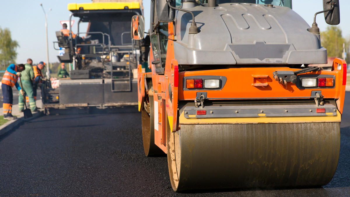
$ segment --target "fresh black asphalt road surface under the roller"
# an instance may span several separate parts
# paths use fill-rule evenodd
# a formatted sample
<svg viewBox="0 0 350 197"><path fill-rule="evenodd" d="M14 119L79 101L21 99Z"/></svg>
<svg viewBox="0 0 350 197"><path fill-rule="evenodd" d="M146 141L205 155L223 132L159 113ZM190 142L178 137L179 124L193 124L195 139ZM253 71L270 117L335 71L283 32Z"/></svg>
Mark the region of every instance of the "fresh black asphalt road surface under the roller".
<svg viewBox="0 0 350 197"><path fill-rule="evenodd" d="M322 188L172 190L166 157L144 156L136 108L50 115L0 138L0 196L350 196L350 93L336 174Z"/></svg>

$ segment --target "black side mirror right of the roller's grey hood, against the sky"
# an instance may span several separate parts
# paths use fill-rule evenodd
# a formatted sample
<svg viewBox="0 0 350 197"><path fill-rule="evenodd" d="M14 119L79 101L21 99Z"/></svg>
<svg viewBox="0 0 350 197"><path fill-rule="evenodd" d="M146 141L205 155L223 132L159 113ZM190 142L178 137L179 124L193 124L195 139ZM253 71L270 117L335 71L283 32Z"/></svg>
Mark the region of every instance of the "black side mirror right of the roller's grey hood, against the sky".
<svg viewBox="0 0 350 197"><path fill-rule="evenodd" d="M336 25L340 23L339 0L323 0L323 10L331 9L332 5L334 8L324 13L324 20L328 24Z"/></svg>

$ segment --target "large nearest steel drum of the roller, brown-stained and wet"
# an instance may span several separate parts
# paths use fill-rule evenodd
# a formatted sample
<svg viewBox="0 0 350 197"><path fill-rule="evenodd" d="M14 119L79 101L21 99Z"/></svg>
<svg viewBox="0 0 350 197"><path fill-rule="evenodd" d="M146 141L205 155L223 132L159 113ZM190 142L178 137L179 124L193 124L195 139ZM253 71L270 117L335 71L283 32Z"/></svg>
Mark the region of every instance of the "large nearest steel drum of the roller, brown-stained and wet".
<svg viewBox="0 0 350 197"><path fill-rule="evenodd" d="M174 191L325 185L340 149L339 122L181 125L167 138Z"/></svg>

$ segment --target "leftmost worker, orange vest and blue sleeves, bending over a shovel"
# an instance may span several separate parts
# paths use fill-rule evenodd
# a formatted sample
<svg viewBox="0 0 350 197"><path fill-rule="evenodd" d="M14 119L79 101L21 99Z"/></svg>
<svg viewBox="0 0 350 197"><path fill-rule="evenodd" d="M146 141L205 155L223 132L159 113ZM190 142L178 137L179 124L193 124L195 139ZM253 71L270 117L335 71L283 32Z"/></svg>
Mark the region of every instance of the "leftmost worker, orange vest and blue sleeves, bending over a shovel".
<svg viewBox="0 0 350 197"><path fill-rule="evenodd" d="M3 96L2 109L3 109L3 118L7 120L16 119L12 115L12 103L13 103L13 93L12 87L16 86L16 88L20 91L22 95L24 95L24 91L17 83L17 78L21 77L21 72L25 70L25 66L23 64L10 64L5 74L3 74L1 80L1 90Z"/></svg>

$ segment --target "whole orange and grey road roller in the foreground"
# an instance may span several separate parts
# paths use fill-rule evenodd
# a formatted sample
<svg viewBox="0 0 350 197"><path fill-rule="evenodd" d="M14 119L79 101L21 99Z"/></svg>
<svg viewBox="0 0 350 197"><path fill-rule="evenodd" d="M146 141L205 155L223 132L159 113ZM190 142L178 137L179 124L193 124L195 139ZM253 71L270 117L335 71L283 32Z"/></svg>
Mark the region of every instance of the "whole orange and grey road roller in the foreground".
<svg viewBox="0 0 350 197"><path fill-rule="evenodd" d="M326 22L338 24L339 2L323 3ZM174 191L332 179L346 63L312 66L327 63L327 50L316 22L291 8L291 0L151 1L139 111L145 154L167 154Z"/></svg>

